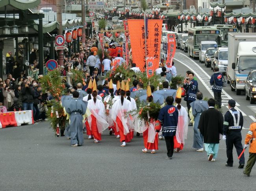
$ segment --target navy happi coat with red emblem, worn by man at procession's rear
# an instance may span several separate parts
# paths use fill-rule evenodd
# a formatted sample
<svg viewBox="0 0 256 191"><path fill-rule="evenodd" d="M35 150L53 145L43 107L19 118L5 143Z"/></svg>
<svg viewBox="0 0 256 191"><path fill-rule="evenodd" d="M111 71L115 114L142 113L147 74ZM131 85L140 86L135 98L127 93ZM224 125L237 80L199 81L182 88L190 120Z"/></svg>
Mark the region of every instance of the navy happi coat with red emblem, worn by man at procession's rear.
<svg viewBox="0 0 256 191"><path fill-rule="evenodd" d="M163 127L163 136L176 135L178 116L178 108L173 105L167 105L160 109L158 120L161 122Z"/></svg>

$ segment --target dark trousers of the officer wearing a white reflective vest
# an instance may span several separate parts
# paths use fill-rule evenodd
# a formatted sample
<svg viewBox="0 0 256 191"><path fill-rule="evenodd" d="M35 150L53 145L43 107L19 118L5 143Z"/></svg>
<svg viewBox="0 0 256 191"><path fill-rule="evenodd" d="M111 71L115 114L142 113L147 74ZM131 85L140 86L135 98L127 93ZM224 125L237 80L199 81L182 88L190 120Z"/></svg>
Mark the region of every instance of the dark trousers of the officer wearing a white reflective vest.
<svg viewBox="0 0 256 191"><path fill-rule="evenodd" d="M227 164L233 164L233 146L236 147L237 156L243 151L243 145L241 143L242 135L240 132L230 130L226 135L226 153L227 153ZM245 164L245 155L243 154L239 159L239 164Z"/></svg>

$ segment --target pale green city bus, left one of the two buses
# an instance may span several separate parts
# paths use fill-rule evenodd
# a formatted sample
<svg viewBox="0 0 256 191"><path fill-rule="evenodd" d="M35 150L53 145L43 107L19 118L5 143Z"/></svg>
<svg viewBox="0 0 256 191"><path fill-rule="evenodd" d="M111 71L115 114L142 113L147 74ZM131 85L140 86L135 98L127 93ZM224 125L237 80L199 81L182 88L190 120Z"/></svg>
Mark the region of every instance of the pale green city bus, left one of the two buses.
<svg viewBox="0 0 256 191"><path fill-rule="evenodd" d="M221 31L213 26L188 29L188 53L194 59L199 57L199 44L201 41L215 41L218 47L221 47Z"/></svg>

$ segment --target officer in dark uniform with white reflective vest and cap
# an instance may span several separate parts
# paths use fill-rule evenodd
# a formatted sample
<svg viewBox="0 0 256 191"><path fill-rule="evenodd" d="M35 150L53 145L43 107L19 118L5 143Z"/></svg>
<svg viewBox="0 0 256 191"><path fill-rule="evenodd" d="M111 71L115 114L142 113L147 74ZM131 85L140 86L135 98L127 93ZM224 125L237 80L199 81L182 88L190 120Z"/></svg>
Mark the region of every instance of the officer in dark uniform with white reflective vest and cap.
<svg viewBox="0 0 256 191"><path fill-rule="evenodd" d="M227 163L226 166L233 166L233 145L236 147L237 156L243 151L241 130L243 127L243 115L240 111L237 111L235 100L228 100L228 109L224 115L223 123L223 140L226 140L226 153ZM239 167L243 168L245 165L245 155L243 154L239 159Z"/></svg>

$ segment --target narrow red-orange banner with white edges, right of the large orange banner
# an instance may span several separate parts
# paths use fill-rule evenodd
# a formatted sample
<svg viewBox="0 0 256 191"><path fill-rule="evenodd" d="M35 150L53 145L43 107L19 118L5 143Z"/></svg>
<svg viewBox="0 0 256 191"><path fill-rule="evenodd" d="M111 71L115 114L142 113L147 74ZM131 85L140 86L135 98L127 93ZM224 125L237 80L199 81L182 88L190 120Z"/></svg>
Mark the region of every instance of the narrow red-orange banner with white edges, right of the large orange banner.
<svg viewBox="0 0 256 191"><path fill-rule="evenodd" d="M173 57L176 51L176 41L174 34L167 35L167 59L166 59L166 66L171 68L173 65Z"/></svg>

